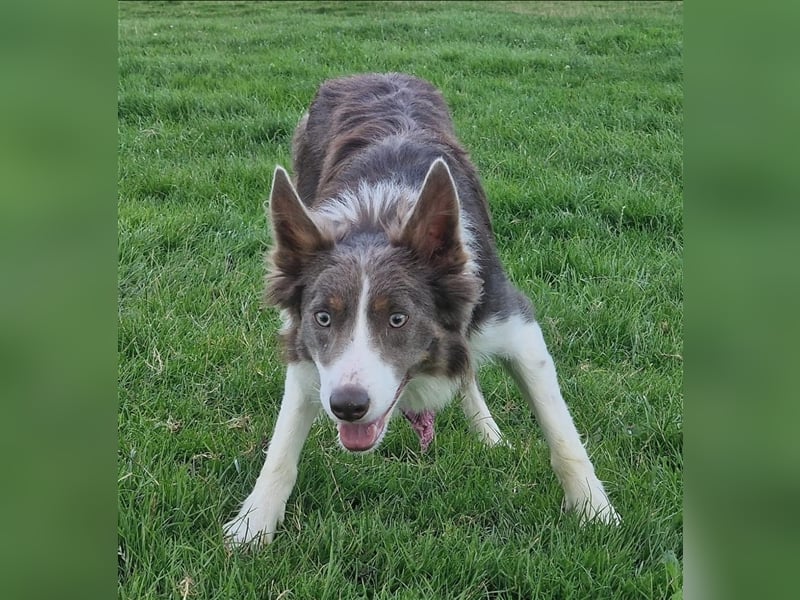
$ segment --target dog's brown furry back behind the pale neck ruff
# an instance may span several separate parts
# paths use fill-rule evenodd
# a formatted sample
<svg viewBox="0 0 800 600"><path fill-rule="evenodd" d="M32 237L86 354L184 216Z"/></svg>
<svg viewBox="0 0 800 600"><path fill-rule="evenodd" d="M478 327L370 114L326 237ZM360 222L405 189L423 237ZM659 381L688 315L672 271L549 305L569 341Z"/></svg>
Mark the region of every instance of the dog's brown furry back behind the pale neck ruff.
<svg viewBox="0 0 800 600"><path fill-rule="evenodd" d="M419 187L431 163L447 159L454 176L478 187L441 94L408 75L361 75L325 82L295 140L294 170L309 206L354 181L396 179ZM479 198L485 210L485 199Z"/></svg>

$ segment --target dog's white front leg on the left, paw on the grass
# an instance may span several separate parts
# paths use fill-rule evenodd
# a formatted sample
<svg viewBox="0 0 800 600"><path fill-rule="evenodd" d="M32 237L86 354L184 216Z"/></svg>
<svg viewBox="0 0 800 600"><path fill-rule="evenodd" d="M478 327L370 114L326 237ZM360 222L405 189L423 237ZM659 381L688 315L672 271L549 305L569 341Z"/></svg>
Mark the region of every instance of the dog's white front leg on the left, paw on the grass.
<svg viewBox="0 0 800 600"><path fill-rule="evenodd" d="M239 514L225 525L229 543L272 542L297 480L300 452L319 413L319 402L314 399L318 388L319 376L312 363L289 364L283 401L261 474Z"/></svg>

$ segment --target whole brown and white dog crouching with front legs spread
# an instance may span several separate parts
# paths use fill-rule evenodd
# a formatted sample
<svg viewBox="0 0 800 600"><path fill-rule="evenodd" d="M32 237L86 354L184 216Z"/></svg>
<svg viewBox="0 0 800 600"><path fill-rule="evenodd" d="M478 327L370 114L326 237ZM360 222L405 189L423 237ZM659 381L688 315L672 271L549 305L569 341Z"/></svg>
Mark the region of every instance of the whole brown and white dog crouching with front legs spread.
<svg viewBox="0 0 800 600"><path fill-rule="evenodd" d="M275 168L265 302L281 310L286 381L252 493L225 525L271 543L320 410L350 452L405 415L423 449L456 394L477 434L503 438L478 387L497 359L541 425L564 507L619 521L581 443L531 302L495 248L486 195L441 93L409 75L325 82Z"/></svg>

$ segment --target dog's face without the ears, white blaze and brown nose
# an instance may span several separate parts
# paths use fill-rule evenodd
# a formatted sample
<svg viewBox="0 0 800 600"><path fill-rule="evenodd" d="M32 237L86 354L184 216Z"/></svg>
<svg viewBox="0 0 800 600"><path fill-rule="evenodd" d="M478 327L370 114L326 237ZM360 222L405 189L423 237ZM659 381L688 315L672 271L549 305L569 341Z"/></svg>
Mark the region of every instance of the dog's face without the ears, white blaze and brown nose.
<svg viewBox="0 0 800 600"><path fill-rule="evenodd" d="M319 371L322 406L353 451L377 445L405 383L440 358L445 333L404 253L370 250L338 249L306 290L299 335Z"/></svg>

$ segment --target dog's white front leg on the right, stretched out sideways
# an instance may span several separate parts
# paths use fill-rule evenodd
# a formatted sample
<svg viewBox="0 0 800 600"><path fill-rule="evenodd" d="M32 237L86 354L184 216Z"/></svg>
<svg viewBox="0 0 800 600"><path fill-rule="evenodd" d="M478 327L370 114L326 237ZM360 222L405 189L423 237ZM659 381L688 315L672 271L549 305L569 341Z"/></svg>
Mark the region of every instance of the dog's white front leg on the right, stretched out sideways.
<svg viewBox="0 0 800 600"><path fill-rule="evenodd" d="M511 321L508 367L542 427L550 447L550 463L564 488L566 508L577 511L582 521L619 522L561 396L541 327L535 321Z"/></svg>

